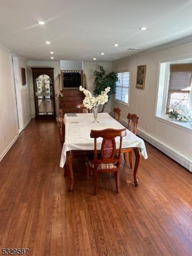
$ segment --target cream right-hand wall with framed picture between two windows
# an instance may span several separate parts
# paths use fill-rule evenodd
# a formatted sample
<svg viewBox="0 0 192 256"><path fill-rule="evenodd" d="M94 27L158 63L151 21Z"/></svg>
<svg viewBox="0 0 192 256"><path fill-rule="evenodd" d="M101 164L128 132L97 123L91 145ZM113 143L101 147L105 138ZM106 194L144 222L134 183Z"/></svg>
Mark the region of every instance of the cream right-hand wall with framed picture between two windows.
<svg viewBox="0 0 192 256"><path fill-rule="evenodd" d="M190 55L192 55L192 42L145 55L132 56L132 58L125 58L113 63L113 71L127 67L130 68L130 96L129 108L120 105L113 99L111 110L113 110L113 107L121 108L122 119L127 119L128 112L137 113L140 117L140 131L192 161L192 134L155 119L157 79L160 60ZM138 65L147 65L144 90L136 88ZM148 125L148 130L146 130L146 125Z"/></svg>

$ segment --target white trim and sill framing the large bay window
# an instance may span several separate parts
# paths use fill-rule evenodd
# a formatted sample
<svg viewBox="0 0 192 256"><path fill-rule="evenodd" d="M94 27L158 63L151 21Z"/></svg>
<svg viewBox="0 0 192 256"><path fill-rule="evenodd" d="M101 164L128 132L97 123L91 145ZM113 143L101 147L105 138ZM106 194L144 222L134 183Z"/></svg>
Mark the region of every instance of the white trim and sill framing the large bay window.
<svg viewBox="0 0 192 256"><path fill-rule="evenodd" d="M154 117L156 120L158 120L160 122L164 122L168 125L172 125L175 128L178 128L180 130L183 130L183 131L186 131L186 132L189 132L190 134L192 134L192 127L190 127L191 122L178 122L178 121L171 120L171 119L169 119L168 115L166 115L165 113L163 115L162 111L161 111L161 115L157 115L157 104L158 104L158 93L159 93L159 82L160 82L160 65L162 63L168 63L171 61L181 61L181 60L188 59L188 58L192 58L192 55L182 55L182 56L178 56L175 58L159 60ZM168 87L167 87L167 92L168 92ZM166 96L166 100L167 100L167 96Z"/></svg>

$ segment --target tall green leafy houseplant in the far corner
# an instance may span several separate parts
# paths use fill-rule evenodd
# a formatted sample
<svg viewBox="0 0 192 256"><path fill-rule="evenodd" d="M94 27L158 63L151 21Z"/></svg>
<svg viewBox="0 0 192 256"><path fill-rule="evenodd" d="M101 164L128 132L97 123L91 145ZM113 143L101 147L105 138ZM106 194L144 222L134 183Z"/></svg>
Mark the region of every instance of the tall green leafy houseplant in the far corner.
<svg viewBox="0 0 192 256"><path fill-rule="evenodd" d="M105 91L107 87L110 87L111 90L108 92L108 100L110 99L111 94L115 93L116 82L119 80L117 73L110 72L107 75L105 74L105 70L102 66L99 66L99 71L95 70L95 89L93 91L94 95L99 95L102 91ZM105 109L107 102L102 107L102 112Z"/></svg>

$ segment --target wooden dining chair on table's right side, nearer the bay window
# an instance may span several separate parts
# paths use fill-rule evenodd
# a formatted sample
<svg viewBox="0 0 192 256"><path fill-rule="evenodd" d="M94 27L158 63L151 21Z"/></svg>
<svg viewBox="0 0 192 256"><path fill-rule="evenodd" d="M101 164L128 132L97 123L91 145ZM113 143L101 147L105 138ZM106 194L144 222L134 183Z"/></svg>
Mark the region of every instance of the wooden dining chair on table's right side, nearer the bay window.
<svg viewBox="0 0 192 256"><path fill-rule="evenodd" d="M138 122L139 122L139 117L136 114L128 113L127 118L128 118L128 130L136 135L137 125L138 125ZM129 153L129 164L130 164L130 167L132 169L133 168L133 165L132 165L132 148L123 148L122 153L123 153L125 161L127 161L127 153Z"/></svg>

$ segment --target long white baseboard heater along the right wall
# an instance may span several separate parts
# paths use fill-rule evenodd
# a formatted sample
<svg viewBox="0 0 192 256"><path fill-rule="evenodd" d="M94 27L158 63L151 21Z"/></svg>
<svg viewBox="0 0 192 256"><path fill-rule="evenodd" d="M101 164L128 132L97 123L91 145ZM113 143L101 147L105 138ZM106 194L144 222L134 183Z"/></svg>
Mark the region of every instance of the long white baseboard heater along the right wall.
<svg viewBox="0 0 192 256"><path fill-rule="evenodd" d="M113 116L113 113L110 113L110 115ZM120 123L125 127L127 127L128 125L127 120L124 119L120 119ZM182 154L165 145L164 143L160 142L159 140L156 140L154 137L151 137L149 134L146 134L139 128L137 129L137 135L141 137L143 140L146 140L148 143L153 145L155 148L158 148L164 154L166 154L167 156L175 160L177 163L179 163L181 166L185 167L190 172L192 172L192 160L183 156Z"/></svg>

